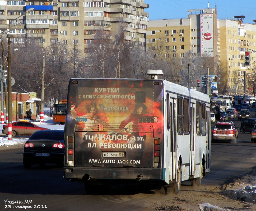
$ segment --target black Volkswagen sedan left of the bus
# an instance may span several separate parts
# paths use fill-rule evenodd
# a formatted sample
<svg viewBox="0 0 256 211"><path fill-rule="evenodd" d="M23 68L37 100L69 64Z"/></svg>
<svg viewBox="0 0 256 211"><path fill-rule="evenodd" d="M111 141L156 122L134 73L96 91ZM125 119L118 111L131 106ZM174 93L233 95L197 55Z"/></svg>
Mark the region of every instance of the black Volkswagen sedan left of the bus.
<svg viewBox="0 0 256 211"><path fill-rule="evenodd" d="M64 130L41 130L34 132L23 148L23 165L30 168L33 164L41 167L48 164L63 166Z"/></svg>

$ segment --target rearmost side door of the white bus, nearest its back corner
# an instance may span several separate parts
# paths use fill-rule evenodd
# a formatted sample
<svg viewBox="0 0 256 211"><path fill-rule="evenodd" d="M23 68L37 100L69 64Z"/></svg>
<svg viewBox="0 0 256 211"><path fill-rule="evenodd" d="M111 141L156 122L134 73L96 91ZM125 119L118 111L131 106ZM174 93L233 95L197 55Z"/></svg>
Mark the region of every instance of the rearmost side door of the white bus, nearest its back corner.
<svg viewBox="0 0 256 211"><path fill-rule="evenodd" d="M177 137L176 137L176 99L170 98L170 181L175 180L176 176L176 154L177 154Z"/></svg>

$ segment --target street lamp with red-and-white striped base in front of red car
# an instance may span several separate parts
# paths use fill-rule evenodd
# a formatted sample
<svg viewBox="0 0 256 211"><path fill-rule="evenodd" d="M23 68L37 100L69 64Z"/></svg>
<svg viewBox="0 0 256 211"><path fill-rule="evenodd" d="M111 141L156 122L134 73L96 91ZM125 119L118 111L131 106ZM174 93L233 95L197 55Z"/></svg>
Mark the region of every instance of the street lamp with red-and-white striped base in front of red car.
<svg viewBox="0 0 256 211"><path fill-rule="evenodd" d="M26 10L24 15L26 13L34 11L34 8L29 8ZM23 15L20 15L19 17L13 19L17 20ZM14 25L17 25L18 22L16 22ZM11 73L11 34L10 34L10 23L9 23L9 34L7 34L7 63L8 63L8 112L10 115L8 115L8 140L12 140L12 73Z"/></svg>

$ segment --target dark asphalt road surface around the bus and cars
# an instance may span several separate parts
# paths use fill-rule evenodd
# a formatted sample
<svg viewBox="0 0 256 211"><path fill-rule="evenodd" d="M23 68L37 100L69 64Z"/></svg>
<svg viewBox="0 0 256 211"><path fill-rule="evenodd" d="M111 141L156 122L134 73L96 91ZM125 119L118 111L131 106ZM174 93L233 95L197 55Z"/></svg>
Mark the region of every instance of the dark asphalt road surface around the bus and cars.
<svg viewBox="0 0 256 211"><path fill-rule="evenodd" d="M234 123L240 127L240 121L234 120ZM112 189L106 195L89 195L83 184L65 180L61 167L46 165L42 169L35 165L24 169L22 148L2 150L0 157L0 210L136 211L166 197L132 186ZM210 174L202 179L202 185L220 185L245 174L255 163L256 143L251 143L250 133L239 131L237 144L212 143ZM181 185L181 191L192 188L190 182Z"/></svg>

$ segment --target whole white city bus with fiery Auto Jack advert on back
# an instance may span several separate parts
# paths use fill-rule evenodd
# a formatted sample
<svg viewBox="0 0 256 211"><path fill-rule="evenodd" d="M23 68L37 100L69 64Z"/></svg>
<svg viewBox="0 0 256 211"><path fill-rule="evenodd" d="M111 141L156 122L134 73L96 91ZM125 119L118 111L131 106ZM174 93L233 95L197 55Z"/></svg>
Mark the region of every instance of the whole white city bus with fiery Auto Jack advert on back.
<svg viewBox="0 0 256 211"><path fill-rule="evenodd" d="M143 184L179 193L210 172L210 98L157 79L71 79L64 178L86 191Z"/></svg>

